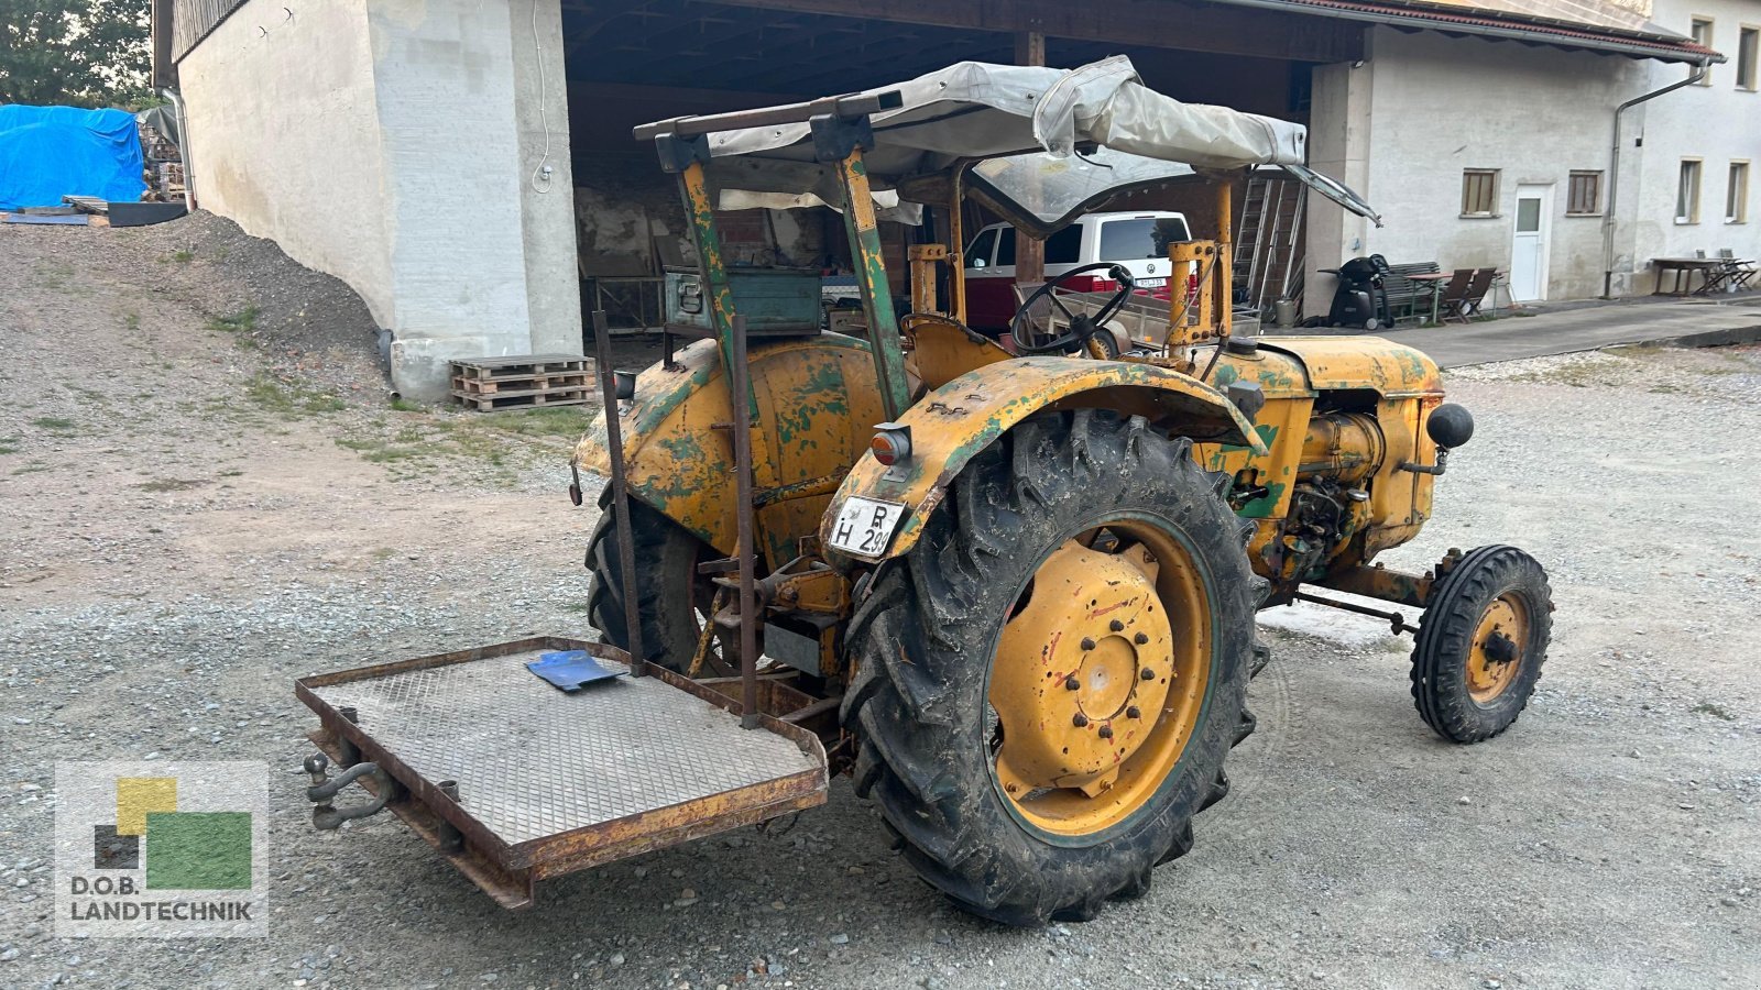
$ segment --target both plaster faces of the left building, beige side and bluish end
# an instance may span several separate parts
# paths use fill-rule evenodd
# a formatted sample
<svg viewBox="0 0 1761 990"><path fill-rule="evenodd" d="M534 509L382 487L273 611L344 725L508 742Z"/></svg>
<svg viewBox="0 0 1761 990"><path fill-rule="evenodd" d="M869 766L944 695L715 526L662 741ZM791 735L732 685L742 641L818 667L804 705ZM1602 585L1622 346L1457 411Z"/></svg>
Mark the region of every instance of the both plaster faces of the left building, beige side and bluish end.
<svg viewBox="0 0 1761 990"><path fill-rule="evenodd" d="M558 0L248 0L180 76L201 203L361 292L402 393L579 351Z"/></svg>

